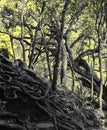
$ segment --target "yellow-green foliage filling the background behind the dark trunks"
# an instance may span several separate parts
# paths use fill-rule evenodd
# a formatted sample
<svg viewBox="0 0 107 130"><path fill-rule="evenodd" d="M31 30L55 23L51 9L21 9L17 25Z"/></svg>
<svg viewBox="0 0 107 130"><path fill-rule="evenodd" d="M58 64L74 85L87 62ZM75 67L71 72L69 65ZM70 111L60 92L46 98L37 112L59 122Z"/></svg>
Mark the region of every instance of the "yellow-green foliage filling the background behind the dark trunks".
<svg viewBox="0 0 107 130"><path fill-rule="evenodd" d="M55 84L61 84L62 74L65 74L66 86L73 89L75 85L77 87L74 91L77 91L81 88L78 88L78 84L81 84L81 74L75 73L70 64L83 53L96 49L100 38L104 84L107 79L106 1L68 0L64 9L65 4L64 0L1 1L0 48L8 48L12 60L22 59L30 69L36 70L51 81L55 80L54 72L58 68ZM65 50L67 67L63 67L62 46L66 44L72 55L70 62L69 53ZM98 52L86 53L82 59L86 60L89 66L94 63L94 72L100 78ZM57 62L58 65L55 66ZM81 66L81 69L84 70L84 67Z"/></svg>

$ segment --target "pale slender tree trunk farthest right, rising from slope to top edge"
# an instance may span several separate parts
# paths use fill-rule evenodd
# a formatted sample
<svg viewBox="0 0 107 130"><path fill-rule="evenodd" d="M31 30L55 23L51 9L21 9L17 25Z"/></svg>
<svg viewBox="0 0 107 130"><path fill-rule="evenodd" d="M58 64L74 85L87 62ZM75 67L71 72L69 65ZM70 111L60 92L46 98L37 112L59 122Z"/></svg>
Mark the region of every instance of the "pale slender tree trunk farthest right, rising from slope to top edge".
<svg viewBox="0 0 107 130"><path fill-rule="evenodd" d="M98 6L99 11L96 13L96 32L98 37L98 59L99 59L99 72L100 72L100 92L99 92L99 109L102 111L102 98L103 98L103 69L102 69L102 39L101 39L101 30L103 23L103 1L99 1L100 6Z"/></svg>

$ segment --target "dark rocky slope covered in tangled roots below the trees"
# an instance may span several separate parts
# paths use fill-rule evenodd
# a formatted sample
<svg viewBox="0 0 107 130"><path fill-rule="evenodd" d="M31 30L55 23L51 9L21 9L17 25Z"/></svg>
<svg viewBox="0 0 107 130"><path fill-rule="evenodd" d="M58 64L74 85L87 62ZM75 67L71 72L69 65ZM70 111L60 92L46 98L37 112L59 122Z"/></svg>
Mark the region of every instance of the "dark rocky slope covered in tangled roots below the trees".
<svg viewBox="0 0 107 130"><path fill-rule="evenodd" d="M22 63L23 64L23 63ZM0 130L90 130L100 122L77 95L0 55Z"/></svg>

